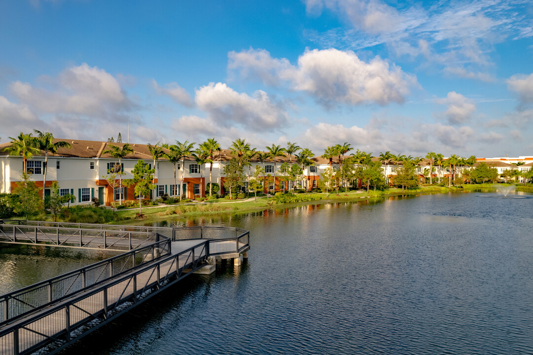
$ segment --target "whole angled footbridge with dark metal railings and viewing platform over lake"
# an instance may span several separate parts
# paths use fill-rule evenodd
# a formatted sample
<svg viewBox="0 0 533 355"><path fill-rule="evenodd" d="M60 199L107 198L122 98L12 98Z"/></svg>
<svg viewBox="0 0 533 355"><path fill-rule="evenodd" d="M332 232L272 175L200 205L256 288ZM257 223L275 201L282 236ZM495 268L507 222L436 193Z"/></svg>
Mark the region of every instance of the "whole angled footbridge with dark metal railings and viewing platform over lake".
<svg viewBox="0 0 533 355"><path fill-rule="evenodd" d="M0 354L53 354L216 259L236 265L249 232L0 220L0 242L125 253L0 296Z"/></svg>

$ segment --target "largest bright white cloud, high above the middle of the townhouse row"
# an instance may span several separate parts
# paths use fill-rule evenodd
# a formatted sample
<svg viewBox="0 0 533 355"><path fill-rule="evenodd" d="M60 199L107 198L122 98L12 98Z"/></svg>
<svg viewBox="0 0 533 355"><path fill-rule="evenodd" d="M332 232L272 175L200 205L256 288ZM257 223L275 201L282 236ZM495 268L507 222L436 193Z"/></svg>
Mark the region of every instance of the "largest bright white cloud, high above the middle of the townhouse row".
<svg viewBox="0 0 533 355"><path fill-rule="evenodd" d="M286 59L273 59L265 50L230 52L229 69L241 76L257 76L267 85L288 82L296 91L308 92L325 107L347 104L402 103L416 78L379 57L368 63L352 51L306 50L297 66Z"/></svg>

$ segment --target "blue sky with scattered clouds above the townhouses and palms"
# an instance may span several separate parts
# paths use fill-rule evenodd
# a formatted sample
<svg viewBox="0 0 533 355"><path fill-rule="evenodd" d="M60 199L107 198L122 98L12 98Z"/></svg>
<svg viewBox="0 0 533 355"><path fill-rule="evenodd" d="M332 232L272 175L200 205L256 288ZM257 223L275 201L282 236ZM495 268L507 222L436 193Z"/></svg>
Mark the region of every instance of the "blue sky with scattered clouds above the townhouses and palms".
<svg viewBox="0 0 533 355"><path fill-rule="evenodd" d="M0 3L0 137L533 155L531 1Z"/></svg>

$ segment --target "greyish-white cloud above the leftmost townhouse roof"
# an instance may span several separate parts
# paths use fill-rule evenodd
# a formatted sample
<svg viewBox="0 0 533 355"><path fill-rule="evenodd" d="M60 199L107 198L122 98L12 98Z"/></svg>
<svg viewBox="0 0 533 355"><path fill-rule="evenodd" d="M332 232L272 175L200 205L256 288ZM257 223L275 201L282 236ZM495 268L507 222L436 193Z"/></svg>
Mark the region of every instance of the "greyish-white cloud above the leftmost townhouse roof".
<svg viewBox="0 0 533 355"><path fill-rule="evenodd" d="M115 77L86 63L63 70L53 81L59 87L56 91L20 81L11 84L11 91L23 104L53 114L117 118L119 112L134 107Z"/></svg>

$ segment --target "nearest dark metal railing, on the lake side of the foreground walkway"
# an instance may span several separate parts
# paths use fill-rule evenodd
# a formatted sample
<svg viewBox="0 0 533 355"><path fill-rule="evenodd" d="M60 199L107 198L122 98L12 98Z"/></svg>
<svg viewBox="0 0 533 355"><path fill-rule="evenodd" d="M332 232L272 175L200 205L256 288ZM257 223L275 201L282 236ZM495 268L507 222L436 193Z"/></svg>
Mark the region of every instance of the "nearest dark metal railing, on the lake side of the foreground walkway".
<svg viewBox="0 0 533 355"><path fill-rule="evenodd" d="M0 353L62 349L206 264L207 243L165 256L0 330Z"/></svg>

